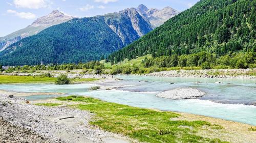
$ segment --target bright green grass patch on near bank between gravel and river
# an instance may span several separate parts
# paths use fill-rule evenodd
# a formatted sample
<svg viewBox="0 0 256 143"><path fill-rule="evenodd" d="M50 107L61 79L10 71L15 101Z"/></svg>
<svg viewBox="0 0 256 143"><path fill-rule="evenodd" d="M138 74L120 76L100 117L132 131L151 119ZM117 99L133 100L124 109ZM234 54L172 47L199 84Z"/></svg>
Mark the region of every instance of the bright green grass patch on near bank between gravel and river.
<svg viewBox="0 0 256 143"><path fill-rule="evenodd" d="M202 126L215 127L214 125L204 121L172 121L170 119L180 116L174 112L143 109L77 96L56 99L79 101L80 104L70 106L95 113L91 125L121 133L141 142L225 142L196 134Z"/></svg>

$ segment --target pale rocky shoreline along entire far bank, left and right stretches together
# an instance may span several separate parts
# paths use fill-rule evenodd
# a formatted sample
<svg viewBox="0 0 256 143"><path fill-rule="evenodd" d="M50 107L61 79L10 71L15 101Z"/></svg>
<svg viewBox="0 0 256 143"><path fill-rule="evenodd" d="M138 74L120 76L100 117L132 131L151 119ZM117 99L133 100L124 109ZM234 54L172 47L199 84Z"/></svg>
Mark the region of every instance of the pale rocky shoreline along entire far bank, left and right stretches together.
<svg viewBox="0 0 256 143"><path fill-rule="evenodd" d="M53 71L38 71L35 73L5 73L2 75L18 75L18 76L40 76L42 74L50 73L52 77L57 77L60 74L67 74L69 78L98 78L117 80L113 75L110 74L88 74L82 73L81 70L72 70L70 72L53 70ZM158 77L198 77L198 78L245 78L245 79L256 79L256 69L220 69L220 70L172 70L154 72L149 74L130 74L135 76L158 76Z"/></svg>

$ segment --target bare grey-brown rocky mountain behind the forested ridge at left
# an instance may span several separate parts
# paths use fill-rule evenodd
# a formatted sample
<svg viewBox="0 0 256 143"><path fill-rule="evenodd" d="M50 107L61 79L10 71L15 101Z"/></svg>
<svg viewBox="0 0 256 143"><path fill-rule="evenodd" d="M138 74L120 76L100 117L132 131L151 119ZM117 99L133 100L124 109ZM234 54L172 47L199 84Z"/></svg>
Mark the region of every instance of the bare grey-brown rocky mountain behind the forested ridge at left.
<svg viewBox="0 0 256 143"><path fill-rule="evenodd" d="M31 25L23 28L22 30L11 33L5 37L0 38L0 51L7 48L9 45L25 38L28 36L35 35L40 31L62 22L66 22L74 17L64 15L58 10L52 11L47 16L40 17L36 19Z"/></svg>

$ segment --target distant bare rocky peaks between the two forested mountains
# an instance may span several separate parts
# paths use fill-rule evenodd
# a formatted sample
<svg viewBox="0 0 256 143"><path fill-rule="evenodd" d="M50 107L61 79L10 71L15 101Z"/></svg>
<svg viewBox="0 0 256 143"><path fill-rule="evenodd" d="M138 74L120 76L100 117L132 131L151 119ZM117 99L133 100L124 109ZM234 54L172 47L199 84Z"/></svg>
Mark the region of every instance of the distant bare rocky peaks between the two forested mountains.
<svg viewBox="0 0 256 143"><path fill-rule="evenodd" d="M162 10L158 9L148 9L144 5L139 5L136 10L146 17L152 25L158 27L162 25L165 21L169 20L170 18L174 17L175 15L179 14L180 12L171 8L165 7Z"/></svg>

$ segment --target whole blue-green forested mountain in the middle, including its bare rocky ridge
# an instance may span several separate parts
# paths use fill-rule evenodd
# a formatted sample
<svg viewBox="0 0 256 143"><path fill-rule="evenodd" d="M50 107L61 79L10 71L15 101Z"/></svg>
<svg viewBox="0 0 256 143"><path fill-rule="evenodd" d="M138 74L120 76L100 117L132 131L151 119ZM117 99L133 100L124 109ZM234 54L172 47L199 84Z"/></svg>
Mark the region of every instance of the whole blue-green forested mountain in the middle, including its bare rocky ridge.
<svg viewBox="0 0 256 143"><path fill-rule="evenodd" d="M40 19L38 21L35 23L41 23ZM0 52L0 64L99 60L152 30L150 22L134 8L103 16L74 18L10 45Z"/></svg>

